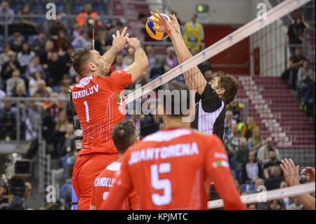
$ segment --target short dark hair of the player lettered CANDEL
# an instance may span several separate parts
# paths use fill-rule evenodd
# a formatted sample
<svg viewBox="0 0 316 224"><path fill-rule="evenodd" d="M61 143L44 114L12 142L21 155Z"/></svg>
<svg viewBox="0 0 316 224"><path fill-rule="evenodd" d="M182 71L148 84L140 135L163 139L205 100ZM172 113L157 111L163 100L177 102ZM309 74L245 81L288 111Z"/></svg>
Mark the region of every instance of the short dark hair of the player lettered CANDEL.
<svg viewBox="0 0 316 224"><path fill-rule="evenodd" d="M117 151L124 153L138 138L137 129L133 121L124 120L117 123L112 130L112 139Z"/></svg>

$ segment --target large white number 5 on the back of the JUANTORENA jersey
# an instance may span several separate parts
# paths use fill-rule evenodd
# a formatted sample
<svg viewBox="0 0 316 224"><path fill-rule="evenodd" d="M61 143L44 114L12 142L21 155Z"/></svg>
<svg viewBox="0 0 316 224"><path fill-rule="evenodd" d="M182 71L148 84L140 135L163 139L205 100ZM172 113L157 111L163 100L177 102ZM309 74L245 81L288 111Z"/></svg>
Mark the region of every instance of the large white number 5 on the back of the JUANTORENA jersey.
<svg viewBox="0 0 316 224"><path fill-rule="evenodd" d="M170 173L171 164L153 164L150 166L150 178L152 187L154 190L164 190L164 195L152 194L152 203L157 206L162 206L165 204L170 204L171 195L171 181L169 179L159 180L159 173Z"/></svg>

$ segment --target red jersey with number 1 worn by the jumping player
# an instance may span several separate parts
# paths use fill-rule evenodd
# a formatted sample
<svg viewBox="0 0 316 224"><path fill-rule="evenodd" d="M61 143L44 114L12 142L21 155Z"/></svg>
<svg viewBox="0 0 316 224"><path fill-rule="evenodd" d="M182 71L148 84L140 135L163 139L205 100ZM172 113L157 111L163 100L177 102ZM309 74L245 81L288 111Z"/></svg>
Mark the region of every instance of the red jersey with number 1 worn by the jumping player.
<svg viewBox="0 0 316 224"><path fill-rule="evenodd" d="M125 119L126 105L121 94L131 83L129 71L117 70L107 77L84 77L72 88L72 101L84 137L79 154L117 153L112 145L112 129Z"/></svg>

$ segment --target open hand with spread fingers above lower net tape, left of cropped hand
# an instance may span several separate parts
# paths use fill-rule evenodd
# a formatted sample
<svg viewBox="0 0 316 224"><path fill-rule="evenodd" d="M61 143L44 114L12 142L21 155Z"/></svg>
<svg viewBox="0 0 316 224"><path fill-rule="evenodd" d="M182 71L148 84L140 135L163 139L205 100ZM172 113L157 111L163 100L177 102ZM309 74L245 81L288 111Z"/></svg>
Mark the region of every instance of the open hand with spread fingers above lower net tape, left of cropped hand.
<svg viewBox="0 0 316 224"><path fill-rule="evenodd" d="M299 166L295 166L294 162L292 159L282 159L281 163L279 166L281 167L283 173L284 173L284 178L287 180L287 183L290 186L293 185L299 185L300 184L300 176L299 176Z"/></svg>

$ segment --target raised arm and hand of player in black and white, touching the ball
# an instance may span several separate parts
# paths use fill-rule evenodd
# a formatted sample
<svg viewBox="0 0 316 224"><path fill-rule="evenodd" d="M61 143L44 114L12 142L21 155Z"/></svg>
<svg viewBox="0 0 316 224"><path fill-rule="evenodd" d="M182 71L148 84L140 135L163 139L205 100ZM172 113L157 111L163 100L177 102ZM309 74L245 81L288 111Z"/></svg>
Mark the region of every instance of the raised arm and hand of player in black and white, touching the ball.
<svg viewBox="0 0 316 224"><path fill-rule="evenodd" d="M153 12L150 12L150 13L154 15ZM182 63L188 60L189 58L192 58L192 55L189 49L187 49L187 46L185 45L185 41L180 32L180 25L178 23L176 16L169 15L171 18L171 22L170 22L170 21L167 21L159 13L158 10L157 10L157 13L159 15L159 18L157 18L157 15L154 15L157 18L157 20L152 20L150 18L148 18L148 20L159 24L159 28L154 27L155 30L157 30L158 32L166 32L167 34L169 34L174 50L178 57L178 62ZM196 66L192 67L192 69L188 70L187 72L184 72L183 76L185 78L185 83L187 84L187 86L192 90L196 90L197 93L199 93L199 95L202 95L207 81L204 78L202 72L199 70L199 68Z"/></svg>

